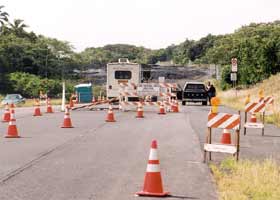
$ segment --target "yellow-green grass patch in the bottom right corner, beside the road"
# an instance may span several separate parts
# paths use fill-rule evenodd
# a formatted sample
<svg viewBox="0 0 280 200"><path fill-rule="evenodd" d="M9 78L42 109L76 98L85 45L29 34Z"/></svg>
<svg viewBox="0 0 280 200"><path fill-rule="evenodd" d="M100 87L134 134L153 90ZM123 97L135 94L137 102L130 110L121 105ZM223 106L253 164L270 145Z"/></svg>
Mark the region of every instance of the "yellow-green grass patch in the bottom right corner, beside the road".
<svg viewBox="0 0 280 200"><path fill-rule="evenodd" d="M226 159L211 164L220 200L279 200L280 166L264 161Z"/></svg>

